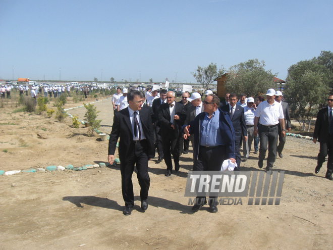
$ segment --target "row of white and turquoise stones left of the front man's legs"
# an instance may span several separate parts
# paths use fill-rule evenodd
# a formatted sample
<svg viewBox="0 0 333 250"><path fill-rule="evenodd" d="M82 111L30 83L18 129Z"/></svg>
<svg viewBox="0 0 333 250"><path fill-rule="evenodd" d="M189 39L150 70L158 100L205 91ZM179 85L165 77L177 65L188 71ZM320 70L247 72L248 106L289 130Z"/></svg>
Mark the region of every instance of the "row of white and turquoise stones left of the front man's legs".
<svg viewBox="0 0 333 250"><path fill-rule="evenodd" d="M116 158L114 161L114 164L110 165L109 163L103 163L100 162L99 164L87 164L82 167L74 167L73 165L67 165L66 167L63 166L47 166L46 168L29 168L26 170L12 170L12 171L4 171L0 170L0 175L14 175L18 173L35 173L35 172L52 172L52 171L64 171L64 170L73 170L73 171L81 171L81 170L87 170L87 169L92 169L92 168L105 168L106 166L112 166L115 167L117 164L120 164L119 158Z"/></svg>

